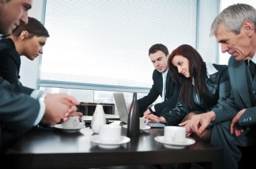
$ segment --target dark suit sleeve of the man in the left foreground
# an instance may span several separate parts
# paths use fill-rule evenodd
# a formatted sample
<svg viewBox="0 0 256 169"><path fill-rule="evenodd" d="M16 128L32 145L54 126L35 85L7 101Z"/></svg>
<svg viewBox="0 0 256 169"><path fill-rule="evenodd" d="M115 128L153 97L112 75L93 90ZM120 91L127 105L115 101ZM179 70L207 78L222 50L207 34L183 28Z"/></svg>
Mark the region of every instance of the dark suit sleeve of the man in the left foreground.
<svg viewBox="0 0 256 169"><path fill-rule="evenodd" d="M0 152L33 127L40 105L28 96L32 91L0 77Z"/></svg>

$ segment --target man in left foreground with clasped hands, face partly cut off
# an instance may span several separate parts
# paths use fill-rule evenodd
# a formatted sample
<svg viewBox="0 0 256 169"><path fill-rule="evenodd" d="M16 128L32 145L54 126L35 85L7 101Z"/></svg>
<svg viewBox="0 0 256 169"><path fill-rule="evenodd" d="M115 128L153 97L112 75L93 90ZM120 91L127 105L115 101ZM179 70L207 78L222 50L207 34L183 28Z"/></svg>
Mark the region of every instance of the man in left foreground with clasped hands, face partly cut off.
<svg viewBox="0 0 256 169"><path fill-rule="evenodd" d="M0 34L9 34L28 23L31 0L0 0ZM0 45L0 50L2 46ZM39 122L54 125L66 121L79 105L74 97L47 94L0 77L0 153Z"/></svg>

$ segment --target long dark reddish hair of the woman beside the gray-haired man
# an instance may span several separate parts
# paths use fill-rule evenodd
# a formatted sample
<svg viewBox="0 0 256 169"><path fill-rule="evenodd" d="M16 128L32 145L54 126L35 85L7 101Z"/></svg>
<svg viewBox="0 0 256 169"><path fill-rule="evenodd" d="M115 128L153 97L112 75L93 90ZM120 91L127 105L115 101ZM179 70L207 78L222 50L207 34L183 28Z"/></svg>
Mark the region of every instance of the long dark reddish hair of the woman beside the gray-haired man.
<svg viewBox="0 0 256 169"><path fill-rule="evenodd" d="M189 74L191 78L186 78L183 74L178 72L177 67L173 66L172 59L174 56L181 55L189 60ZM190 107L195 107L193 101L193 93L197 93L200 100L207 94L207 87L205 85L206 66L200 54L192 46L183 44L172 51L168 58L168 68L172 80L181 84L181 91L179 99L184 101ZM194 85L192 84L194 79Z"/></svg>

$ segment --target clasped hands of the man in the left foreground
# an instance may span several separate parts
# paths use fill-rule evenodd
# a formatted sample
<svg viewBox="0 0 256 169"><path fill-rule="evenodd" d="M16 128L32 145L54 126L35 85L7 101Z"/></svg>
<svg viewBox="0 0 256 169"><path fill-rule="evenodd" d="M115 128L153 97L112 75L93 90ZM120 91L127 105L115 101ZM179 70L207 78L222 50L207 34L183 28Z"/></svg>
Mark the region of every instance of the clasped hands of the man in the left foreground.
<svg viewBox="0 0 256 169"><path fill-rule="evenodd" d="M42 122L50 125L67 121L71 113L77 111L75 105L80 104L74 97L66 94L47 94L44 103L46 110Z"/></svg>

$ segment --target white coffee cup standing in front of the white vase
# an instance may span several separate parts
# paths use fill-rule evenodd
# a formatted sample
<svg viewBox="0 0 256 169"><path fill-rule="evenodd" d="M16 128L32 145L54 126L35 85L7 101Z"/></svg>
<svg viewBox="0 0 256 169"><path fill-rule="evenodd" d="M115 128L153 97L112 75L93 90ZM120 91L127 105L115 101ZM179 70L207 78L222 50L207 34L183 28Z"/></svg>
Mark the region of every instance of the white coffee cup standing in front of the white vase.
<svg viewBox="0 0 256 169"><path fill-rule="evenodd" d="M118 142L121 139L120 125L102 125L99 131L100 141L104 143Z"/></svg>

